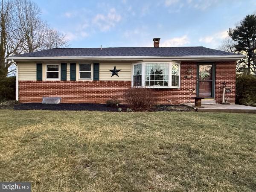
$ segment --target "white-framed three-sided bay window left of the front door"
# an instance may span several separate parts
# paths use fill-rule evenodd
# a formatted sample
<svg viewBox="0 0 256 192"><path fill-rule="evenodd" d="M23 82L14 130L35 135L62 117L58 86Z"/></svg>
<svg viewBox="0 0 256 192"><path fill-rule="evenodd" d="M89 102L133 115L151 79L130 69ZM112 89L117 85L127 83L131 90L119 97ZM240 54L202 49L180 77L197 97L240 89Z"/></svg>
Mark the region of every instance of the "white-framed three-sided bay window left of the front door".
<svg viewBox="0 0 256 192"><path fill-rule="evenodd" d="M133 86L179 88L180 64L177 62L143 62L133 65Z"/></svg>

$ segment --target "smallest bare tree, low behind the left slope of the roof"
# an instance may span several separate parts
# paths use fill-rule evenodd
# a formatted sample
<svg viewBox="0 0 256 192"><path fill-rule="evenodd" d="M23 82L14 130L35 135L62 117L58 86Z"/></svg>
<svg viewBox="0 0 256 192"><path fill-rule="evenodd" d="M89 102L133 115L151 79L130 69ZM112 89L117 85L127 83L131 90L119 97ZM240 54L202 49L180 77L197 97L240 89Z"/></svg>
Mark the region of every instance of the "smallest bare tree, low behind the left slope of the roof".
<svg viewBox="0 0 256 192"><path fill-rule="evenodd" d="M69 47L66 36L54 29L48 28L40 50L62 47Z"/></svg>

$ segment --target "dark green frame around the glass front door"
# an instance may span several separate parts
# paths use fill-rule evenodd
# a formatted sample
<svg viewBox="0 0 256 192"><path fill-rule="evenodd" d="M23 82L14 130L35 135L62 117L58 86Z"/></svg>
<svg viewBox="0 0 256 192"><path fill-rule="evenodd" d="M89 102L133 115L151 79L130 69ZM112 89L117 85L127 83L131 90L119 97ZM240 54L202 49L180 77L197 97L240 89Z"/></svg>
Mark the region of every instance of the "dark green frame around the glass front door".
<svg viewBox="0 0 256 192"><path fill-rule="evenodd" d="M212 97L207 97L205 99L215 98L215 62L198 62L197 63L197 76L196 76L196 96L199 95L199 65L212 64Z"/></svg>

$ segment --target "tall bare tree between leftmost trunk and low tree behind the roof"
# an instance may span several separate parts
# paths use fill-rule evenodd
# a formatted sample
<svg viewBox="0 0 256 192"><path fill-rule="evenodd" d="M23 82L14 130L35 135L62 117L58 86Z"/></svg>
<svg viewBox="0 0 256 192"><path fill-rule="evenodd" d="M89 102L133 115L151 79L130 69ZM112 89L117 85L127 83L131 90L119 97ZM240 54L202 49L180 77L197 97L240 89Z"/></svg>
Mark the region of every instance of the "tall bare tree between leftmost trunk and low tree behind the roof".
<svg viewBox="0 0 256 192"><path fill-rule="evenodd" d="M31 0L15 0L14 7L14 22L24 37L23 52L34 52L43 45L47 32L47 23L40 18L41 9Z"/></svg>

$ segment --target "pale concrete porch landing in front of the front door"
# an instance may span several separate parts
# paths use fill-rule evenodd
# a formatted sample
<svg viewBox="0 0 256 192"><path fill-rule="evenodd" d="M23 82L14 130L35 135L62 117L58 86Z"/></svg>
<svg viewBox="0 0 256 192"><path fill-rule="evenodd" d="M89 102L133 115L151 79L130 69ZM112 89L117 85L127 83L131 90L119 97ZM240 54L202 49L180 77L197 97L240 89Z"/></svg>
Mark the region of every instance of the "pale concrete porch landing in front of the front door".
<svg viewBox="0 0 256 192"><path fill-rule="evenodd" d="M183 105L192 107L194 103L183 103ZM197 108L203 112L226 112L226 113L256 113L256 107L245 105L222 105L222 104L202 104L204 108ZM195 108L195 107L192 107Z"/></svg>

